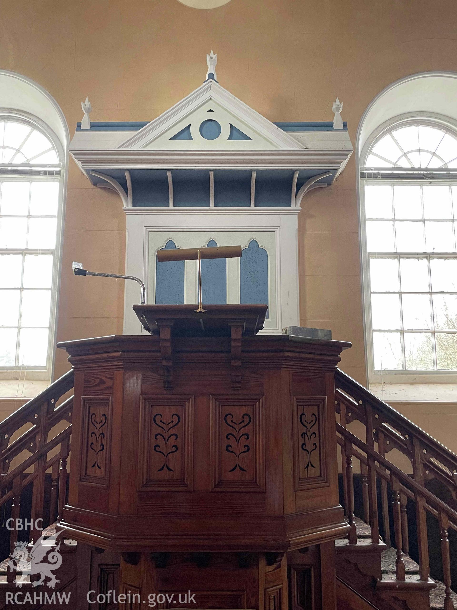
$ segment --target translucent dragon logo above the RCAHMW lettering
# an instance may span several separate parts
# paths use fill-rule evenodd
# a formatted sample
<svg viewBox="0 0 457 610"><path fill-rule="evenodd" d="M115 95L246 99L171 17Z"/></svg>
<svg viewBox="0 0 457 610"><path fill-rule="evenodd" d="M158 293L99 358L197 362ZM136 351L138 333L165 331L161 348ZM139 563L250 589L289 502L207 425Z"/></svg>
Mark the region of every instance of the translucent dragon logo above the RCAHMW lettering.
<svg viewBox="0 0 457 610"><path fill-rule="evenodd" d="M10 570L22 573L21 578L15 580L16 587L21 588L27 582L27 576L40 575L40 580L32 581L32 587L44 584L48 577L49 582L46 584L54 589L59 581L52 572L62 565L62 555L59 553L61 540L56 544L59 534L61 532L46 538L41 536L31 549L27 548L28 542L16 542L8 562Z"/></svg>

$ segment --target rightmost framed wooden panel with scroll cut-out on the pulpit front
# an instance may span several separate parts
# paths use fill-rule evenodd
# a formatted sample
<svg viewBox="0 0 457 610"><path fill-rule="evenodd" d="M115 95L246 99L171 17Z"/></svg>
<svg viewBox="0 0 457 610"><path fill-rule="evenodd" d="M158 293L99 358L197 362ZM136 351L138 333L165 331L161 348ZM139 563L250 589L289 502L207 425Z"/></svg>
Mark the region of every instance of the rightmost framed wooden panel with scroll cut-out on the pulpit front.
<svg viewBox="0 0 457 610"><path fill-rule="evenodd" d="M325 479L325 396L294 397L294 485L295 490Z"/></svg>

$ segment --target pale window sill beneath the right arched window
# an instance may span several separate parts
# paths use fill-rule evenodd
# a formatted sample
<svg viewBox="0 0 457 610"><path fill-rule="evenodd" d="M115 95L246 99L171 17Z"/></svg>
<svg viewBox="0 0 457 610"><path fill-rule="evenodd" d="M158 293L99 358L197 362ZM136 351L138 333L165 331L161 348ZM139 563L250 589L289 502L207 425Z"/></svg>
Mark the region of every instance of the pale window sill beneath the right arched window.
<svg viewBox="0 0 457 610"><path fill-rule="evenodd" d="M457 403L457 383L372 383L370 392L384 403Z"/></svg>

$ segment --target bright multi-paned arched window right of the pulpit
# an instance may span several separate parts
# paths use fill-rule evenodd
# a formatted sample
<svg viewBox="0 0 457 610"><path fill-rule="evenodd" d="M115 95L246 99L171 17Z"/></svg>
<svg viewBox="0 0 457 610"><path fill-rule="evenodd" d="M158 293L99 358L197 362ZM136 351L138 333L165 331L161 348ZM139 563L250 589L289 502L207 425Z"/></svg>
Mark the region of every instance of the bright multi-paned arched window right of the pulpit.
<svg viewBox="0 0 457 610"><path fill-rule="evenodd" d="M369 369L457 371L457 130L400 121L360 159Z"/></svg>

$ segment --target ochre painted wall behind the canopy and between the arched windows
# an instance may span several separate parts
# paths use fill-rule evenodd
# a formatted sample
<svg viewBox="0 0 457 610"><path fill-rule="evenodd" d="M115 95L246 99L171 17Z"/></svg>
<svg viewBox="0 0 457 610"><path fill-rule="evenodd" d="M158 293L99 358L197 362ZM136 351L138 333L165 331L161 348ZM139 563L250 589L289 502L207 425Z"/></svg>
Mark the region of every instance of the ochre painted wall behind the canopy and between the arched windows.
<svg viewBox="0 0 457 610"><path fill-rule="evenodd" d="M204 80L218 53L221 85L272 121L331 120L336 96L355 142L367 104L411 73L455 70L455 0L232 0L214 10L177 0L2 0L0 68L51 93L71 134L88 95L94 121L151 120ZM354 157L299 216L303 325L353 342L342 368L365 381ZM82 280L71 261L124 267L118 197L70 161L57 339L122 331L122 282ZM66 370L58 350L55 376Z"/></svg>

